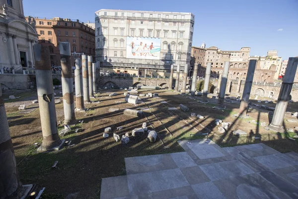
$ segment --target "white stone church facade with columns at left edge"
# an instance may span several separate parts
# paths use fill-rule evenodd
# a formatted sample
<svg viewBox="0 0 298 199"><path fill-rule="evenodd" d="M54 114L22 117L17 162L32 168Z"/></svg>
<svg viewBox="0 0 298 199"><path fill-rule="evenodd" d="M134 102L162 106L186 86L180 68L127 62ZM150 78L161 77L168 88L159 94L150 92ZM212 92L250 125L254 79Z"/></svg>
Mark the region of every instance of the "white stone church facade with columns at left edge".
<svg viewBox="0 0 298 199"><path fill-rule="evenodd" d="M0 69L34 67L37 37L34 18L25 20L23 0L0 0Z"/></svg>

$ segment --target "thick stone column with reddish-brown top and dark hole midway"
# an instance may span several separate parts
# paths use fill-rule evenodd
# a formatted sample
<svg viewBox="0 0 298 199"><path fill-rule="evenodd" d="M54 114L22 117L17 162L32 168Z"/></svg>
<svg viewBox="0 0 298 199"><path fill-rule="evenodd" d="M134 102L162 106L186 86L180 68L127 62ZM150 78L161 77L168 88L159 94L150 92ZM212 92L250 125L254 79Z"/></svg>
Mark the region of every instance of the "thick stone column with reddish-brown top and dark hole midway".
<svg viewBox="0 0 298 199"><path fill-rule="evenodd" d="M42 144L37 150L59 150L65 140L60 140L58 136L49 47L36 44L34 45L33 50L37 96L43 136Z"/></svg>

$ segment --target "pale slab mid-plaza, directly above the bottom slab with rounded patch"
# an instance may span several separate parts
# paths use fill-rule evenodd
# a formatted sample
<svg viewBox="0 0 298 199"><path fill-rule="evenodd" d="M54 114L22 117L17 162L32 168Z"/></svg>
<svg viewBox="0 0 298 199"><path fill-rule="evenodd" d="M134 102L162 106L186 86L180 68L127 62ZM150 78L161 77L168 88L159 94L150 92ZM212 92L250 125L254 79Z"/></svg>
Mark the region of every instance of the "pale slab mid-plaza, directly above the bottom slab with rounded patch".
<svg viewBox="0 0 298 199"><path fill-rule="evenodd" d="M201 165L199 167L212 181L254 173L239 160Z"/></svg>

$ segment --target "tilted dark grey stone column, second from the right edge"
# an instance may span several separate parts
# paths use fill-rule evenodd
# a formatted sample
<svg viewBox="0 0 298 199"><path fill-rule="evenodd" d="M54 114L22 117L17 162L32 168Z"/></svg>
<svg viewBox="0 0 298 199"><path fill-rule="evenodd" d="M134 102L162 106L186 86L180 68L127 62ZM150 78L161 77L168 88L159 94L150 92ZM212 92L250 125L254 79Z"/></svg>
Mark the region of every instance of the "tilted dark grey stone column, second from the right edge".
<svg viewBox="0 0 298 199"><path fill-rule="evenodd" d="M247 109L247 106L248 106L248 101L249 101L249 96L250 96L250 91L251 91L251 86L252 86L253 75L254 75L254 71L256 69L256 64L257 64L257 60L249 60L247 76L246 76L242 99L241 99L240 108L239 108L239 114L246 114L245 110Z"/></svg>

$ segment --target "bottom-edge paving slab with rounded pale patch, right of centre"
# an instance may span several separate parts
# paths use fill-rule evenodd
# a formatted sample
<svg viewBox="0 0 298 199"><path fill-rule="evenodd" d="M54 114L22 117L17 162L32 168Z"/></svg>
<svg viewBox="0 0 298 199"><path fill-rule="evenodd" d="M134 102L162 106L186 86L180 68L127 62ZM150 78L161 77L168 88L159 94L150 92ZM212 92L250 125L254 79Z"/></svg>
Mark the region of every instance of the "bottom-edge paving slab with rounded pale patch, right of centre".
<svg viewBox="0 0 298 199"><path fill-rule="evenodd" d="M213 183L227 199L289 199L258 174L238 176L213 181Z"/></svg>

